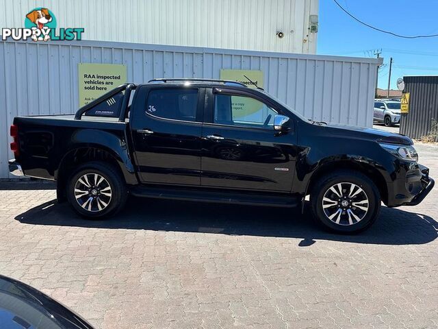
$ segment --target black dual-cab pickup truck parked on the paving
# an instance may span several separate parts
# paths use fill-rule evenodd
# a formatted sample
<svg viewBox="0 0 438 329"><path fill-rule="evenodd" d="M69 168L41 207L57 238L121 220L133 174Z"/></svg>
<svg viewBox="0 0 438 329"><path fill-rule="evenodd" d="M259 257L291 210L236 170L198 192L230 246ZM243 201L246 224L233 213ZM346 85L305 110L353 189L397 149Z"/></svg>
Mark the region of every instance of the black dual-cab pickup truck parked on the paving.
<svg viewBox="0 0 438 329"><path fill-rule="evenodd" d="M433 188L407 136L305 119L237 82L125 84L75 115L16 117L10 172L57 181L79 214L114 215L129 194L302 206L352 233Z"/></svg>

